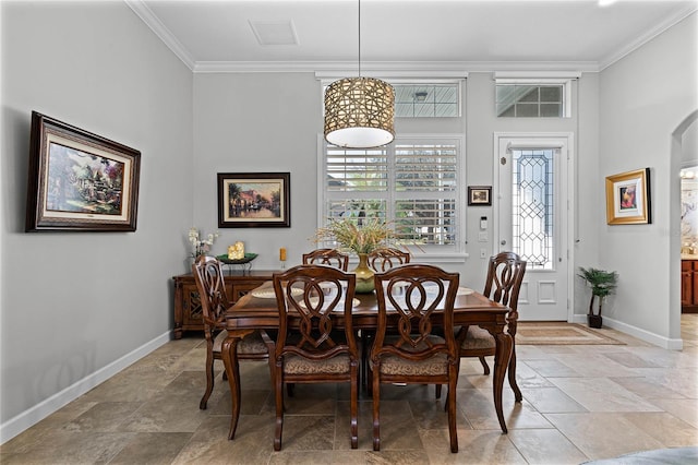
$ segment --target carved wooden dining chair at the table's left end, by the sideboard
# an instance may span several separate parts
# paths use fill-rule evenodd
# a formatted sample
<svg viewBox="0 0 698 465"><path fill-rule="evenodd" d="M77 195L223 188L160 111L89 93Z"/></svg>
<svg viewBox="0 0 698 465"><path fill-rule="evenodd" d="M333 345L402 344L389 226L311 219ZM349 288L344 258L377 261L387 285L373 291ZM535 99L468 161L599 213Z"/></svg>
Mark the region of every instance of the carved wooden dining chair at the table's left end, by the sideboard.
<svg viewBox="0 0 698 465"><path fill-rule="evenodd" d="M198 408L206 409L208 397L214 391L214 360L222 360L220 347L228 337L225 312L231 303L226 294L222 264L213 257L201 255L192 264L192 274L201 299L204 319L204 337L206 338L206 391ZM251 360L269 360L269 373L274 373L274 365L269 354L274 353L274 341L264 331L255 331L238 344L238 358Z"/></svg>

